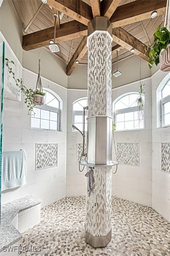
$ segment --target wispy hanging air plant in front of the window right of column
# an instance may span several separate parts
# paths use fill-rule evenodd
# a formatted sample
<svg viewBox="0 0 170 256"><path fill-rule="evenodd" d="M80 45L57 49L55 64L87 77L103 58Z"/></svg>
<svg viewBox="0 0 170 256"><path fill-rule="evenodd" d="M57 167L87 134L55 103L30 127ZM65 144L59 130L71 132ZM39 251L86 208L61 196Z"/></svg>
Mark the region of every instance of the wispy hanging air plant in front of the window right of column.
<svg viewBox="0 0 170 256"><path fill-rule="evenodd" d="M143 89L144 84L140 85L139 89L139 97L136 99L136 106L137 106L137 118L138 118L138 125L140 126L140 123L143 122L143 115L144 115L144 105L145 105L145 100L143 99L142 94L145 93Z"/></svg>

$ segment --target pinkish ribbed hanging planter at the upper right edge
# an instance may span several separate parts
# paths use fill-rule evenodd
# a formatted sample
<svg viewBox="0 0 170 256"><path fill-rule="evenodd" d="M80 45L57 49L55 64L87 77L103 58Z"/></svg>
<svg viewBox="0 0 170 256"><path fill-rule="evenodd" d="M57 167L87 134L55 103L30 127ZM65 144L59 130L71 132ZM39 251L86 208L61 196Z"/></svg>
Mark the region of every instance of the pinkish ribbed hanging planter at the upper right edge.
<svg viewBox="0 0 170 256"><path fill-rule="evenodd" d="M160 70L164 72L170 71L170 44L166 50L162 49L159 55Z"/></svg>

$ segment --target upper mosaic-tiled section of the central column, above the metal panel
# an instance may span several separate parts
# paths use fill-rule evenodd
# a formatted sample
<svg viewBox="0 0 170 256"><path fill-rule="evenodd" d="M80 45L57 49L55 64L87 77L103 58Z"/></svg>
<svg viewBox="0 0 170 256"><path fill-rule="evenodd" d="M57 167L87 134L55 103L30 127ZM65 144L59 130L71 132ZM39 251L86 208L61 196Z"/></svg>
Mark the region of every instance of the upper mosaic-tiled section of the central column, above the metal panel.
<svg viewBox="0 0 170 256"><path fill-rule="evenodd" d="M88 37L88 117L112 117L112 38L106 32Z"/></svg>

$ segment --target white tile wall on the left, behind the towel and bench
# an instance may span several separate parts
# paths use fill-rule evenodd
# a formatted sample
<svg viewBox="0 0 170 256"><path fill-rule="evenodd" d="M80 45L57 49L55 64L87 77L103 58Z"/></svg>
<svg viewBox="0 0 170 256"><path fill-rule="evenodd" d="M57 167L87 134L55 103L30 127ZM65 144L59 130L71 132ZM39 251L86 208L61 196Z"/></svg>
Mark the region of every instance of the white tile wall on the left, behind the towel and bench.
<svg viewBox="0 0 170 256"><path fill-rule="evenodd" d="M23 70L23 81L27 87L36 86L37 75ZM24 149L26 159L26 185L2 192L2 203L27 195L34 195L42 200L41 206L53 203L66 195L66 121L67 90L42 78L42 86L57 93L63 101L61 110L62 131L31 129L31 116L27 105L11 99L4 99L3 150ZM36 143L57 144L57 166L35 170Z"/></svg>

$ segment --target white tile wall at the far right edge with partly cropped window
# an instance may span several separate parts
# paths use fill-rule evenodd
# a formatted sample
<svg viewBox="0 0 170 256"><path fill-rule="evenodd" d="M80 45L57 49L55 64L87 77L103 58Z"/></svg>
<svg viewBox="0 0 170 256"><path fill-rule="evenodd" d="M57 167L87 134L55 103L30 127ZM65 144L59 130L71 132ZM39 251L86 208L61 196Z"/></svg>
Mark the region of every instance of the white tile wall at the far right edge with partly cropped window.
<svg viewBox="0 0 170 256"><path fill-rule="evenodd" d="M160 127L159 95L156 96L156 90L161 90L169 79L169 72L158 71L152 76L152 207L170 222L170 173L161 160L162 145L167 149L170 143L170 126ZM170 161L166 161L170 166Z"/></svg>

